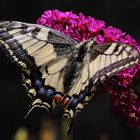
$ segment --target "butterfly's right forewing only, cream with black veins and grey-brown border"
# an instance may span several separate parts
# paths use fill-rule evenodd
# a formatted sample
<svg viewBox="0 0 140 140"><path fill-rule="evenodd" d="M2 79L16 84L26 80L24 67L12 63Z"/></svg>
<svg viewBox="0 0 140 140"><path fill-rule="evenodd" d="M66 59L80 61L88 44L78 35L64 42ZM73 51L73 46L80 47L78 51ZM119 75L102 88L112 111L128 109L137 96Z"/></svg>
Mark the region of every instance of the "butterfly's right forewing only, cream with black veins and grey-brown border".
<svg viewBox="0 0 140 140"><path fill-rule="evenodd" d="M98 53L97 57L92 56L92 53L95 52ZM90 62L90 71L94 73L92 79L103 78L105 76L110 77L121 70L139 63L138 51L134 47L123 43L97 45L93 47L89 53L92 58ZM98 61L98 64L96 61ZM94 63L93 67L99 65L99 68L97 70L93 70L92 63Z"/></svg>

